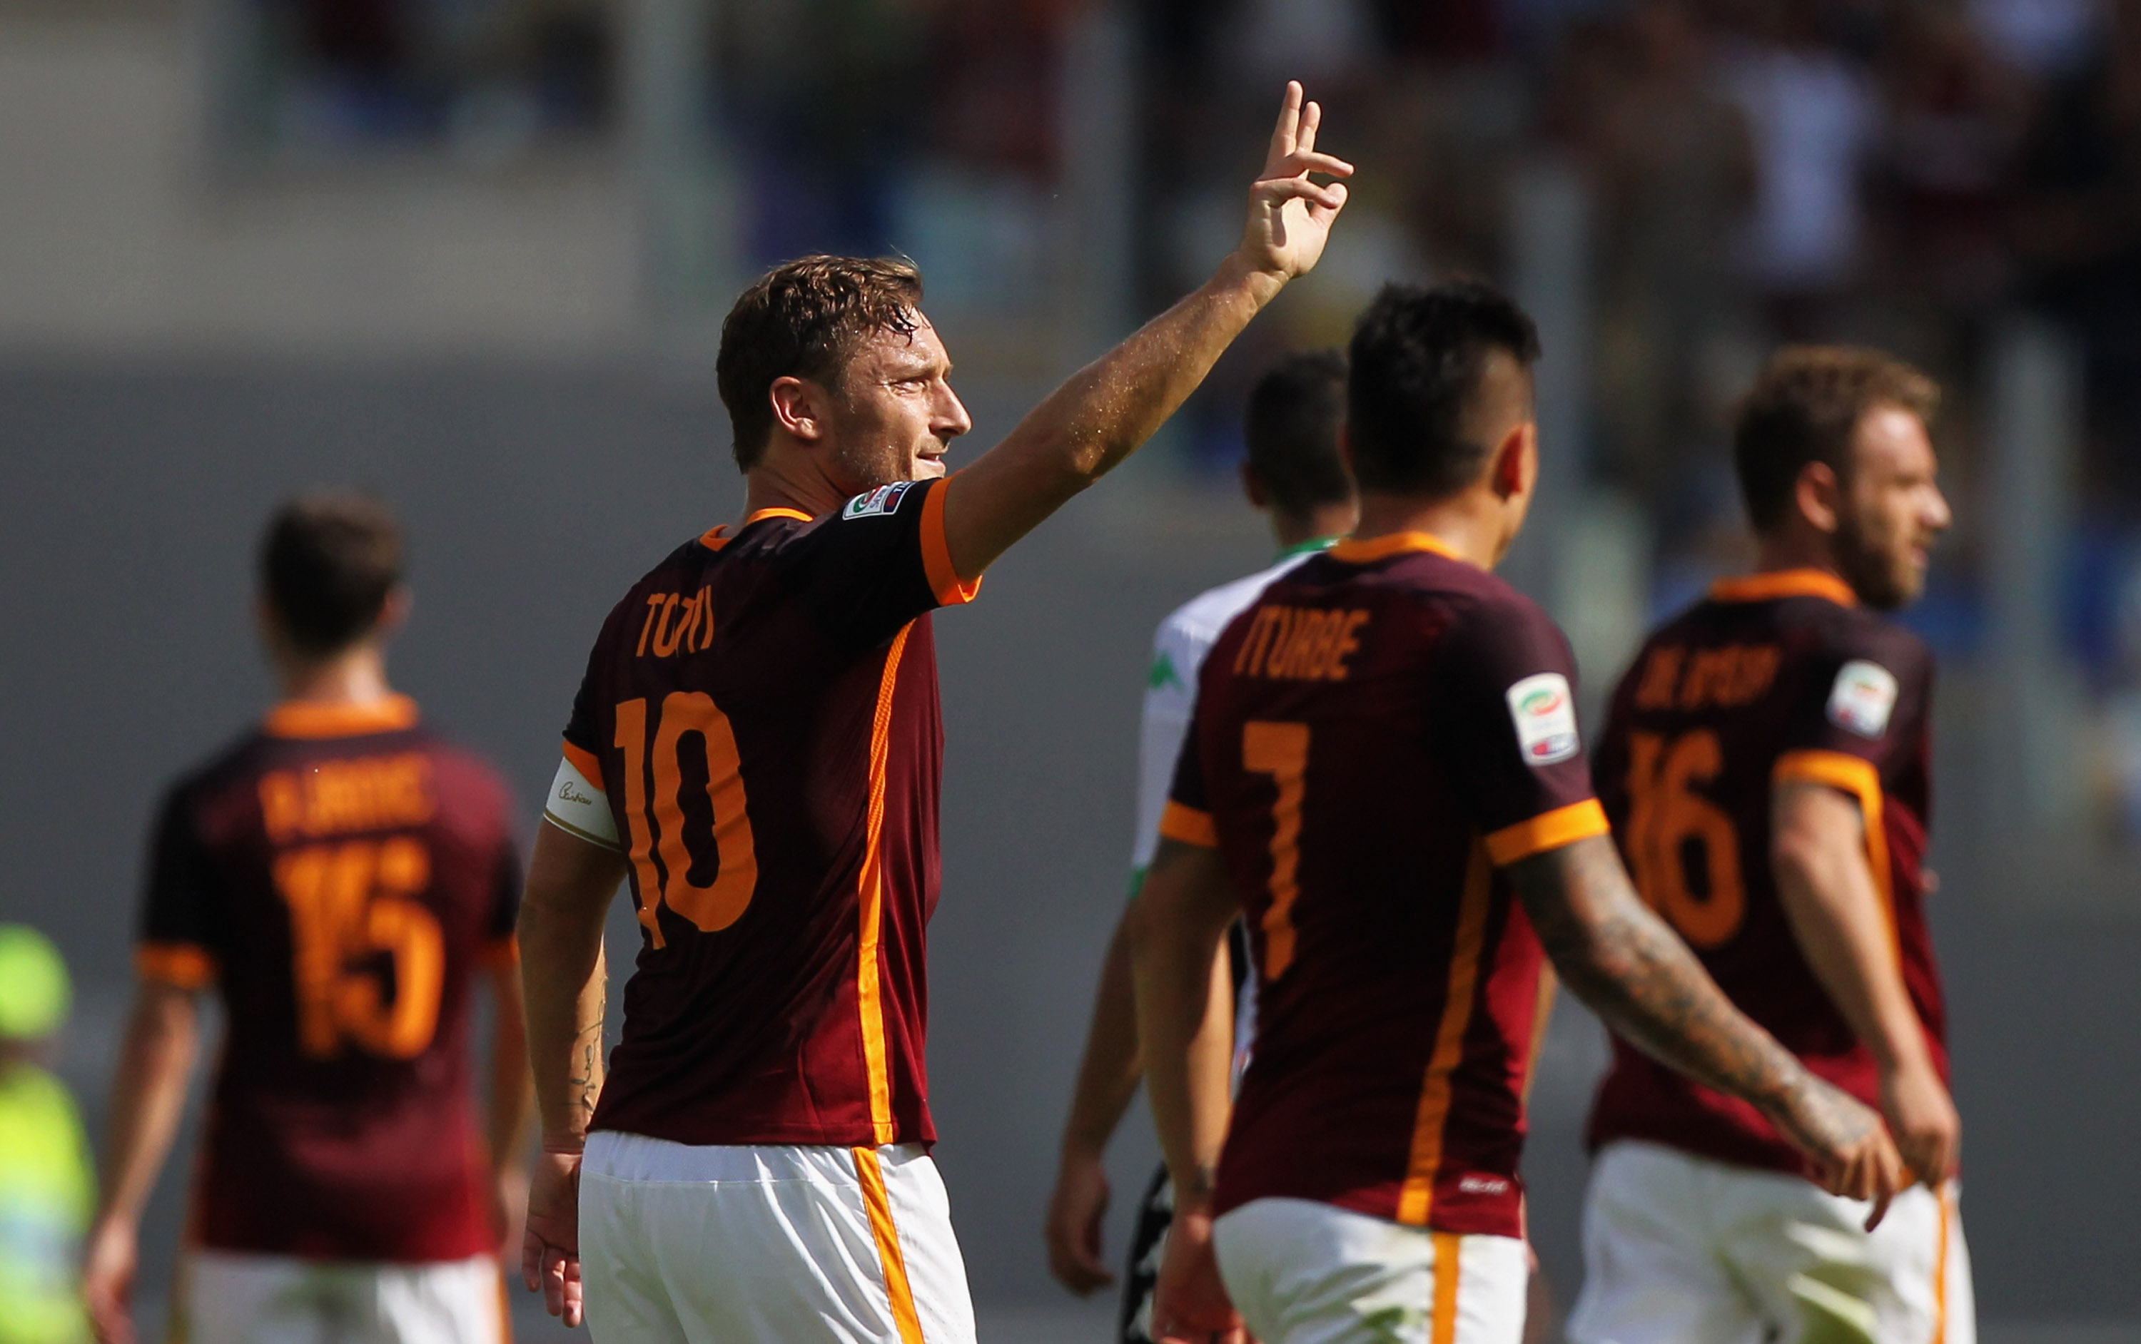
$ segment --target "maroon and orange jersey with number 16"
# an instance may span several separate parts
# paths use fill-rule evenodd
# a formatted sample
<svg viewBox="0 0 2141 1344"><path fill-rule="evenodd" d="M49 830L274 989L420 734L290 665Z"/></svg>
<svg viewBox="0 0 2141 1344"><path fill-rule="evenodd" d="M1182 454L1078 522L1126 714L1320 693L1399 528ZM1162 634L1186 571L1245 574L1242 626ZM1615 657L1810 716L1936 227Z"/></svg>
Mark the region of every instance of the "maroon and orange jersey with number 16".
<svg viewBox="0 0 2141 1344"><path fill-rule="evenodd" d="M1873 1057L1822 991L1777 897L1771 794L1796 779L1858 800L1903 984L1946 1076L1920 869L1931 696L1925 644L1861 608L1841 580L1811 569L1758 574L1719 582L1651 636L1614 691L1597 751L1599 798L1642 897L1741 1012L1869 1104L1878 1104ZM1614 1139L1807 1171L1751 1104L1623 1040L1591 1115L1591 1143Z"/></svg>

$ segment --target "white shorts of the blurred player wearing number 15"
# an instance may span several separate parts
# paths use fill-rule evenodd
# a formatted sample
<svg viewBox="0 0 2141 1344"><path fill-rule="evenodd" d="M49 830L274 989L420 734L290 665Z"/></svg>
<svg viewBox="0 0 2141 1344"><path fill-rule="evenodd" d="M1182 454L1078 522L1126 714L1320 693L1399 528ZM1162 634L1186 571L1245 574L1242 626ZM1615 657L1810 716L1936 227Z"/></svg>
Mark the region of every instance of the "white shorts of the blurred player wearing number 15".
<svg viewBox="0 0 2141 1344"><path fill-rule="evenodd" d="M495 1256L390 1265L195 1250L171 1338L191 1344L492 1344L505 1333Z"/></svg>

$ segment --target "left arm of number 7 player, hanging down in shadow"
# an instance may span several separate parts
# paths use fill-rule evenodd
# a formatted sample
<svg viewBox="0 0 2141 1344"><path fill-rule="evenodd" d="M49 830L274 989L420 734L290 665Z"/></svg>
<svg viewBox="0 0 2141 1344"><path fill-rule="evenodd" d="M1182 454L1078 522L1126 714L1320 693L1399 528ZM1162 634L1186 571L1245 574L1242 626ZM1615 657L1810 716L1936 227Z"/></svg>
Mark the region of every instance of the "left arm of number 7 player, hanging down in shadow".
<svg viewBox="0 0 2141 1344"><path fill-rule="evenodd" d="M1212 1183L1227 1139L1233 1019L1214 1002L1212 963L1237 914L1218 850L1163 839L1130 907L1137 1042L1160 1151L1175 1186L1175 1218L1152 1299L1154 1338L1246 1338L1212 1258Z"/></svg>

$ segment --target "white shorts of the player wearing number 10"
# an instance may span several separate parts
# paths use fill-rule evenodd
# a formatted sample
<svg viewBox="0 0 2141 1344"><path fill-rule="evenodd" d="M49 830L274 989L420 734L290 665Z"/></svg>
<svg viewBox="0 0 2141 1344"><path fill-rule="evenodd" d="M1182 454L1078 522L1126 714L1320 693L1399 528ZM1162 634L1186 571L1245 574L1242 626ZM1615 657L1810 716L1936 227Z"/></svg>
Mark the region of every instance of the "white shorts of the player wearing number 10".
<svg viewBox="0 0 2141 1344"><path fill-rule="evenodd" d="M974 1344L951 1201L914 1143L599 1130L580 1158L580 1276L595 1344Z"/></svg>

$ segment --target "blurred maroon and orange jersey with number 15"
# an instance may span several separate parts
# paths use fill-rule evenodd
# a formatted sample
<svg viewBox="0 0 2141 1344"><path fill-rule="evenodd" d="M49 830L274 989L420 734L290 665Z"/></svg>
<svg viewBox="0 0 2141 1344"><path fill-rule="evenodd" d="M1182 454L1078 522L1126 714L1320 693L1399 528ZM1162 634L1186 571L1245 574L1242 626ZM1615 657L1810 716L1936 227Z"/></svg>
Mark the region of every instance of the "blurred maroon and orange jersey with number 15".
<svg viewBox="0 0 2141 1344"><path fill-rule="evenodd" d="M283 704L163 803L137 963L225 1006L193 1226L323 1261L492 1252L471 982L512 957L507 794L415 704Z"/></svg>

